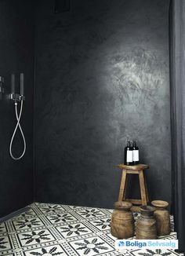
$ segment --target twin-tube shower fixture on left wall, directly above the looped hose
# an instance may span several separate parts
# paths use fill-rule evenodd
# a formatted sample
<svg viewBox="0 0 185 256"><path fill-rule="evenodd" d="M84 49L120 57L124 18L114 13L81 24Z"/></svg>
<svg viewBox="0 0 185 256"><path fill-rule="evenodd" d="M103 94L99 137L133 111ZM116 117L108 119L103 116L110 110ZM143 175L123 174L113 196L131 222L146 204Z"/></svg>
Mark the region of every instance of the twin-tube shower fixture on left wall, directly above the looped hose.
<svg viewBox="0 0 185 256"><path fill-rule="evenodd" d="M25 101L24 96L24 73L20 73L20 94L16 93L16 82L15 82L15 75L11 75L11 93L10 93L10 100L13 101Z"/></svg>

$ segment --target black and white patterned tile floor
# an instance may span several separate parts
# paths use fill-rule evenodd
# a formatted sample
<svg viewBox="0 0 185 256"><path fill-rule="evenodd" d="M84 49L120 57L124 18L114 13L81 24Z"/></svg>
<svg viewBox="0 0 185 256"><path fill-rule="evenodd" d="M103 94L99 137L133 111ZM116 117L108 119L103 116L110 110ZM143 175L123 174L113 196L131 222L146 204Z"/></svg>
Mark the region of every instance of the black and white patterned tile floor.
<svg viewBox="0 0 185 256"><path fill-rule="evenodd" d="M25 213L0 224L0 255L180 255L172 250L115 251L111 213L112 210L100 208L32 203ZM176 239L176 233L171 232L165 239Z"/></svg>

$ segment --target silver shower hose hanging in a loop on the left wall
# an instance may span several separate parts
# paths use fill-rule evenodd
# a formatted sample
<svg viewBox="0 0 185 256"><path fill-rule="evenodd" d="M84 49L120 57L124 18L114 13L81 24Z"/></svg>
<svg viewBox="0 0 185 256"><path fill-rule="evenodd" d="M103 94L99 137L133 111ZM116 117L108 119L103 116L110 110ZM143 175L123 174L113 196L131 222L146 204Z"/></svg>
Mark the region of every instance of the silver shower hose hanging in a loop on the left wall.
<svg viewBox="0 0 185 256"><path fill-rule="evenodd" d="M14 160L20 160L24 156L24 153L25 153L26 147L27 147L27 144L26 144L26 141L25 141L25 137L24 137L24 133L23 133L23 130L22 130L21 126L20 126L20 118L21 118L22 111L23 111L23 101L20 102L20 115L18 115L18 113L17 113L17 102L15 101L14 104L15 104L15 112L16 112L16 121L17 121L17 123L16 123L16 127L15 127L15 130L13 131L13 136L12 136L10 144L9 144L9 154L11 155L11 157ZM12 146L13 146L14 137L16 135L16 130L17 130L18 127L19 127L20 133L21 133L21 135L23 137L24 151L23 151L23 153L19 157L15 157L15 156L13 156Z"/></svg>

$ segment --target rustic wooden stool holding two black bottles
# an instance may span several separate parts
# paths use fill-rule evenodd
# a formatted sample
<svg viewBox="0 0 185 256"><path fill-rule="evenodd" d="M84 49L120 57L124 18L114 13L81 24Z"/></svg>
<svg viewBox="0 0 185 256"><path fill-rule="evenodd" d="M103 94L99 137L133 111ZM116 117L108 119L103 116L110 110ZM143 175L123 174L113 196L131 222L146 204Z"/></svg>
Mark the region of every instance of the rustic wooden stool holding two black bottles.
<svg viewBox="0 0 185 256"><path fill-rule="evenodd" d="M146 164L137 164L136 166L126 166L119 164L118 168L122 169L122 180L119 188L118 201L129 201L133 204L147 205L149 202L147 194L147 184L144 178L143 170L149 168ZM140 180L141 199L126 199L127 174L138 174Z"/></svg>

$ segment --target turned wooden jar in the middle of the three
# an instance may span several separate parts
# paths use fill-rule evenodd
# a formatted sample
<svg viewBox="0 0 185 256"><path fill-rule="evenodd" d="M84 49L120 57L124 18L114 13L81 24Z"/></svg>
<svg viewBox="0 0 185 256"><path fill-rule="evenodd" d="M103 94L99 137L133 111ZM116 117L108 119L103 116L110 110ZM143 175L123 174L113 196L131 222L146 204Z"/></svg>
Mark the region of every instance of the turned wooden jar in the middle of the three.
<svg viewBox="0 0 185 256"><path fill-rule="evenodd" d="M136 222L136 239L157 239L157 224L154 218L154 207L140 207L140 218Z"/></svg>

